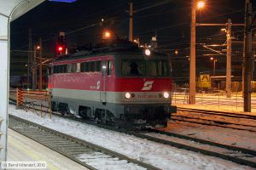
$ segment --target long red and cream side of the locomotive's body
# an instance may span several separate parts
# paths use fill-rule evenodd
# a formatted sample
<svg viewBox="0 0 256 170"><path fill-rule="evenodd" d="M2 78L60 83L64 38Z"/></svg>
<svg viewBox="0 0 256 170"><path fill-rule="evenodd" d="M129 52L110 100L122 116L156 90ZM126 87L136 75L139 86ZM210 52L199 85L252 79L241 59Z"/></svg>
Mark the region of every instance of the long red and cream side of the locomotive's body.
<svg viewBox="0 0 256 170"><path fill-rule="evenodd" d="M66 108L60 108L62 105L68 107L68 111L75 115L79 114L79 107L84 106L90 108L91 111L97 109L106 109L106 88L108 73L103 73L102 68L106 67L111 57L94 57L90 59L76 59L71 61L58 62L52 65L53 69L60 65L79 65L78 70L73 73L56 72L49 76L49 89L52 92L53 105L57 107L57 111L65 111ZM83 64L96 62L94 71L83 71ZM100 65L97 65L97 64ZM99 68L100 69L99 69ZM104 97L105 96L105 97ZM105 104L104 104L105 103Z"/></svg>

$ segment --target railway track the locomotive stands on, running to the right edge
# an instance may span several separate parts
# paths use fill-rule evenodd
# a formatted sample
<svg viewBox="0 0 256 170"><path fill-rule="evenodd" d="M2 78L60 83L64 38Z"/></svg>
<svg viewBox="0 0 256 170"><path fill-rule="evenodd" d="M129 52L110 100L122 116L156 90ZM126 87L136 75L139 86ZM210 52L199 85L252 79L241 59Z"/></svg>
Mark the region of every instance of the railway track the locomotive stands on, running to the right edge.
<svg viewBox="0 0 256 170"><path fill-rule="evenodd" d="M94 122L88 122L86 120L79 119L74 116L62 116L61 114L54 113L56 116L72 119L79 122L85 122L88 124L96 125L97 127L107 128L120 133L127 133L139 138L148 139L160 144L167 144L173 147L177 147L183 150L191 150L200 152L207 156L215 156L228 161L234 161L241 165L249 167L256 167L256 150L247 150L227 144L220 144L205 139L196 139L191 136L182 135L178 133L168 133L159 130L150 131L126 131L125 129L118 129L102 124L96 124ZM153 131L153 132L152 132Z"/></svg>

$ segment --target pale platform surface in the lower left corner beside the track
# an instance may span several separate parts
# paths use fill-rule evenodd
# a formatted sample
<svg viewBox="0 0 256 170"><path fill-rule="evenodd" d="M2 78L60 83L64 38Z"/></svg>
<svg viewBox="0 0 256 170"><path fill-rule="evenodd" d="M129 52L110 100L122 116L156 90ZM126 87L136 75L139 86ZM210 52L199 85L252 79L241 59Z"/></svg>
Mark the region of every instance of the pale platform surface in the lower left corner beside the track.
<svg viewBox="0 0 256 170"><path fill-rule="evenodd" d="M49 170L86 170L79 163L9 129L7 161L42 161ZM19 169L19 168L16 168Z"/></svg>

